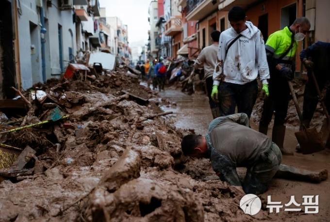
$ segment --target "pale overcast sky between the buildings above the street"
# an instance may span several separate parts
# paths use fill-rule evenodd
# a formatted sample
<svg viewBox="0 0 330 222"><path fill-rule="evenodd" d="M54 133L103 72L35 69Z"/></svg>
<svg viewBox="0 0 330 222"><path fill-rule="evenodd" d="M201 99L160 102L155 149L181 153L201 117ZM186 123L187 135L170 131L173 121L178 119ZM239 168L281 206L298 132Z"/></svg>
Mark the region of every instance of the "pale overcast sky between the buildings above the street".
<svg viewBox="0 0 330 222"><path fill-rule="evenodd" d="M107 16L119 17L128 25L128 40L131 43L148 43L148 8L151 0L99 0L101 8L106 8Z"/></svg>

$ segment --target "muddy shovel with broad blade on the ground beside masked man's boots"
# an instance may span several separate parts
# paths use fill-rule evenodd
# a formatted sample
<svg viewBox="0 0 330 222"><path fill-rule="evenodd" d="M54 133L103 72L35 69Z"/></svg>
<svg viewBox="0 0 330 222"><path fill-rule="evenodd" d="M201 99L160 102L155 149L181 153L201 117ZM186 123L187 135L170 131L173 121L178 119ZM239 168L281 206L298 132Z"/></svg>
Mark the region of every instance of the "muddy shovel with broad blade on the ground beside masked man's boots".
<svg viewBox="0 0 330 222"><path fill-rule="evenodd" d="M322 135L319 134L315 128L306 128L306 126L303 124L302 114L300 111L296 94L293 90L292 82L288 81L288 84L290 87L293 102L295 103L297 109L300 124L302 126L302 130L295 133L297 141L300 144L302 154L311 154L324 150L324 144L322 143Z"/></svg>

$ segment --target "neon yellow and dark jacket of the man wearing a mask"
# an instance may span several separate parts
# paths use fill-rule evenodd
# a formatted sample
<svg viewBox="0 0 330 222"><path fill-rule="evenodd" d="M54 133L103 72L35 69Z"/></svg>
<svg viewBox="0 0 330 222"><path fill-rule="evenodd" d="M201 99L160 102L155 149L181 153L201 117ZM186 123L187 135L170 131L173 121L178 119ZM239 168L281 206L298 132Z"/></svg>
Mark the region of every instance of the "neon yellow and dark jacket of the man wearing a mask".
<svg viewBox="0 0 330 222"><path fill-rule="evenodd" d="M277 64L290 68L294 65L297 50L297 40L294 39L294 35L295 33L288 26L269 35L265 48L270 70L275 70ZM291 50L278 60L288 50L292 41L294 44Z"/></svg>

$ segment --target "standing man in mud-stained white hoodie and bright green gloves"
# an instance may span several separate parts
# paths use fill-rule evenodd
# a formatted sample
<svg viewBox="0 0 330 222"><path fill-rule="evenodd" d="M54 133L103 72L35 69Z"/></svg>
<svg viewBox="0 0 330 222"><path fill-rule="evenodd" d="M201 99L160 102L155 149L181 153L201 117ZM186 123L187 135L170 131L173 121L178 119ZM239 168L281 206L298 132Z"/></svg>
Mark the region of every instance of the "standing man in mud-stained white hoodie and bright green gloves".
<svg viewBox="0 0 330 222"><path fill-rule="evenodd" d="M212 98L219 102L222 116L246 113L250 118L258 95L257 77L268 93L269 69L264 38L242 7L235 6L228 13L231 28L221 32L218 58L213 73Z"/></svg>

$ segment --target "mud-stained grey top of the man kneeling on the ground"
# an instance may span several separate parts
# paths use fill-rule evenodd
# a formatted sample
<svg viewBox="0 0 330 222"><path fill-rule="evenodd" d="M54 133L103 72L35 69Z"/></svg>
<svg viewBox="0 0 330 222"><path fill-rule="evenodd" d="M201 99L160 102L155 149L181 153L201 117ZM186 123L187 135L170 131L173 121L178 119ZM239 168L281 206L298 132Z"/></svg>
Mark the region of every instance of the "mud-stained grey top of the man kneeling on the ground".
<svg viewBox="0 0 330 222"><path fill-rule="evenodd" d="M249 128L245 113L214 119L206 141L213 170L232 186L241 186L236 167L252 166L271 145L269 137Z"/></svg>

